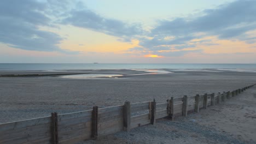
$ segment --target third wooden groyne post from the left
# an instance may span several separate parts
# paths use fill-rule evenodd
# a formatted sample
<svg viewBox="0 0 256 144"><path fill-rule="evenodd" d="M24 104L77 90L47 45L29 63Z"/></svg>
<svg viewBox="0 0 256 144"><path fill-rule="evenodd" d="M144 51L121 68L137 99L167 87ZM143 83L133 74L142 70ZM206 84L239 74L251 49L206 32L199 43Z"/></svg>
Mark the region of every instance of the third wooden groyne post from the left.
<svg viewBox="0 0 256 144"><path fill-rule="evenodd" d="M129 101L124 104L124 131L131 130L131 105Z"/></svg>

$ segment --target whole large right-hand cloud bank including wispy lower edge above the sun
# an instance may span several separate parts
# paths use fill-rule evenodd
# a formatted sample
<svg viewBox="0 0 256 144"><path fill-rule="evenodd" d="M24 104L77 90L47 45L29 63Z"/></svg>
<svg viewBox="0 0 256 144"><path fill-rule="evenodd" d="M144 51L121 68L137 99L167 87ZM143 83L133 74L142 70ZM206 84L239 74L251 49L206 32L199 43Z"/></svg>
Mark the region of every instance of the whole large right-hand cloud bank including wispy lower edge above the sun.
<svg viewBox="0 0 256 144"><path fill-rule="evenodd" d="M219 39L239 39L254 43L254 38L246 32L256 29L256 1L235 1L219 5L215 9L206 9L193 17L176 17L171 20L159 20L158 25L151 29L147 37L139 39L138 46L150 52L165 50L162 56L180 56L189 51L168 51L173 47L183 50L196 44L218 45L193 41L207 36L216 35ZM171 38L171 39L168 39ZM210 40L211 42L211 40ZM182 46L177 46L182 45ZM168 52L167 52L168 51ZM200 52L199 50L197 50Z"/></svg>

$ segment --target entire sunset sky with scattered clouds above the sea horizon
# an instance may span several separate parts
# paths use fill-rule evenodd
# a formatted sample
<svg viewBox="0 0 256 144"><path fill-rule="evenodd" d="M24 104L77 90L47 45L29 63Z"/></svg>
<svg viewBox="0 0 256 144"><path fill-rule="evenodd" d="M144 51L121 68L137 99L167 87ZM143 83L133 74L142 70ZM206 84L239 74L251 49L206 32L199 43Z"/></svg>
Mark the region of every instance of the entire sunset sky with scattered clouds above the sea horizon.
<svg viewBox="0 0 256 144"><path fill-rule="evenodd" d="M256 0L1 0L0 63L256 63Z"/></svg>

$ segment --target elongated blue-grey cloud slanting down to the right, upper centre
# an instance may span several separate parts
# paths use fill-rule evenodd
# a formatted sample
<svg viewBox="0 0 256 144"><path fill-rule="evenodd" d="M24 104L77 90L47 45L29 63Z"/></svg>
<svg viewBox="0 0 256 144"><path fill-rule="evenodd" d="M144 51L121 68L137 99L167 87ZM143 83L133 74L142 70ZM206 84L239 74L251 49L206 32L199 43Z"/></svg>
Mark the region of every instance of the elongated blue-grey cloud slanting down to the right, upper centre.
<svg viewBox="0 0 256 144"><path fill-rule="evenodd" d="M130 41L133 36L143 33L142 27L139 24L129 24L123 21L109 19L86 8L72 9L69 15L62 20L62 24L106 33L123 38L125 41Z"/></svg>

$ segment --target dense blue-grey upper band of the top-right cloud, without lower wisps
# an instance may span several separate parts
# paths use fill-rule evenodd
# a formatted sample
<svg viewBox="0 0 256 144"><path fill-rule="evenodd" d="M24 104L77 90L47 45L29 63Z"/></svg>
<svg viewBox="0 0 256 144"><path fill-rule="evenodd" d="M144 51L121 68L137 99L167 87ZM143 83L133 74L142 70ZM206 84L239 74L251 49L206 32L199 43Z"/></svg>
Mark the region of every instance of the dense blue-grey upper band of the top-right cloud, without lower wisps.
<svg viewBox="0 0 256 144"><path fill-rule="evenodd" d="M235 37L246 31L250 23L256 22L256 1L235 1L220 5L217 9L207 9L204 15L189 19L178 17L174 20L161 21L159 26L152 30L154 34L188 35L191 33L207 32L220 35L220 38ZM233 29L231 27L241 26ZM254 29L256 27L251 27ZM232 32L230 34L230 32Z"/></svg>

